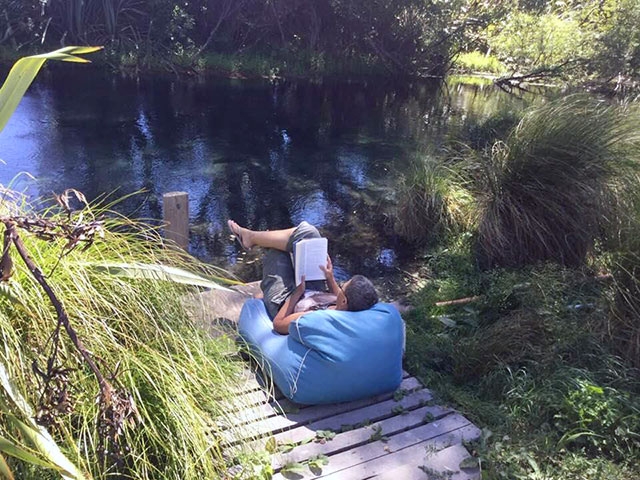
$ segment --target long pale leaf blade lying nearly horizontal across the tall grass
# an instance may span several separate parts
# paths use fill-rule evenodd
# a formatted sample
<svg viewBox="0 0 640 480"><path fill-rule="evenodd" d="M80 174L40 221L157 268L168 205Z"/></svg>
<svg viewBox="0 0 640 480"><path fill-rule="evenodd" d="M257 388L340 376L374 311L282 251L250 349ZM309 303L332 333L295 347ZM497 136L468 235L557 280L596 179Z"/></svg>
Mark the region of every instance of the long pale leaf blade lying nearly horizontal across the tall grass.
<svg viewBox="0 0 640 480"><path fill-rule="evenodd" d="M225 290L232 292L217 282L226 281L220 277L205 278L201 275L182 270L181 268L169 267L166 265L150 265L146 263L116 263L101 262L87 264L101 272L119 277L145 279L145 280L163 280L167 282L181 283L185 285L193 285L196 287L213 288L217 290Z"/></svg>

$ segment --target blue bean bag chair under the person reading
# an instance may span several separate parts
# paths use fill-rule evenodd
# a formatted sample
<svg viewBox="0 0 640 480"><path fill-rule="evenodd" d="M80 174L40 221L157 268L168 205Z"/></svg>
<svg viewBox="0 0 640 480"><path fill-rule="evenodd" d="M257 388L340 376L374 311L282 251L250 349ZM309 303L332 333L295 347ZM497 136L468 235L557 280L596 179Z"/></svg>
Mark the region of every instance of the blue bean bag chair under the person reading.
<svg viewBox="0 0 640 480"><path fill-rule="evenodd" d="M402 380L404 322L392 305L316 310L273 330L262 300L240 313L241 337L262 359L280 391L300 404L336 403L390 392Z"/></svg>

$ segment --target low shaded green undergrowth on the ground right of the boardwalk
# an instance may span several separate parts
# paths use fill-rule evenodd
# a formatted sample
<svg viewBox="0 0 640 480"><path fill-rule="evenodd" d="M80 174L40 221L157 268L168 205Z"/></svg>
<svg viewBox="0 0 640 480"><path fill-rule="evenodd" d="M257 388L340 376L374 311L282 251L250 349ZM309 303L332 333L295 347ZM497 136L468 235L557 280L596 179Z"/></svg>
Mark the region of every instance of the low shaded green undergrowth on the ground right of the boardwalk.
<svg viewBox="0 0 640 480"><path fill-rule="evenodd" d="M602 341L611 285L554 264L476 270L463 245L427 256L406 368L494 432L473 446L486 478L638 476L640 382Z"/></svg>

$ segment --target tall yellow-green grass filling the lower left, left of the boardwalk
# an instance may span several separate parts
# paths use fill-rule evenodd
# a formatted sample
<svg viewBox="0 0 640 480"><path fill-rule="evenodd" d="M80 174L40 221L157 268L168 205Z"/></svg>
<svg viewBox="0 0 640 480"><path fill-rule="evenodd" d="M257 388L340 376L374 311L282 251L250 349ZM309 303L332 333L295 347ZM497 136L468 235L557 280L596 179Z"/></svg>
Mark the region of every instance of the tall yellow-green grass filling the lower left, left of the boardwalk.
<svg viewBox="0 0 640 480"><path fill-rule="evenodd" d="M16 213L16 205L5 201L2 207L3 214L9 208ZM25 205L18 208L28 211ZM86 250L60 258L66 240L50 242L26 232L21 238L103 373L131 395L137 414L117 432L120 452L111 452L121 461L102 461L98 385L66 337L57 346L54 366L63 374L53 388L45 390L35 373L47 370L52 358L56 317L15 254L14 274L0 289L0 362L69 459L93 478L225 477L231 459L223 451L220 433L234 428L227 420L229 405L238 403L232 387L243 369L234 340L210 338L189 317L182 298L193 291L190 287L122 278L88 264L161 263L201 274L218 272L164 245L151 227L101 209L82 215L105 219L104 238ZM66 214L53 211L47 218L67 221ZM72 220L79 221L77 214ZM7 418L0 417L0 435L23 444ZM9 463L16 478L59 478L55 471L31 463Z"/></svg>

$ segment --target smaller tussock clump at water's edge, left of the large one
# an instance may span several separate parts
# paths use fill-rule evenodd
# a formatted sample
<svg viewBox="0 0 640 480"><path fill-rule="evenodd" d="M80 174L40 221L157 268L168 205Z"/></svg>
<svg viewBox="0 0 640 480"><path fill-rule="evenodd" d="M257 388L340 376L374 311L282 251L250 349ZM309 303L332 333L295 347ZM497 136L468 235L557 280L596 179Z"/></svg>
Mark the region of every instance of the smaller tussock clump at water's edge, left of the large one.
<svg viewBox="0 0 640 480"><path fill-rule="evenodd" d="M394 229L408 242L424 245L474 223L474 199L462 177L445 165L416 165L398 185L397 197Z"/></svg>

